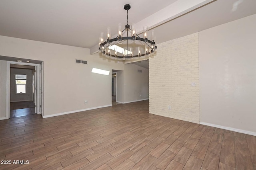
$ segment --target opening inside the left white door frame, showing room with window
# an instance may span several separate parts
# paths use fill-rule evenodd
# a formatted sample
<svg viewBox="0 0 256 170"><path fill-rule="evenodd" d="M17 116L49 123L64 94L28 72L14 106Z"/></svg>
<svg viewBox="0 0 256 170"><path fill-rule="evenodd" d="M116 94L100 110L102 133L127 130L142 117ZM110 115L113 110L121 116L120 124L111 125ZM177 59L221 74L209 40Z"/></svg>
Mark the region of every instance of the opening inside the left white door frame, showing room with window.
<svg viewBox="0 0 256 170"><path fill-rule="evenodd" d="M10 64L10 118L36 114L36 68Z"/></svg>

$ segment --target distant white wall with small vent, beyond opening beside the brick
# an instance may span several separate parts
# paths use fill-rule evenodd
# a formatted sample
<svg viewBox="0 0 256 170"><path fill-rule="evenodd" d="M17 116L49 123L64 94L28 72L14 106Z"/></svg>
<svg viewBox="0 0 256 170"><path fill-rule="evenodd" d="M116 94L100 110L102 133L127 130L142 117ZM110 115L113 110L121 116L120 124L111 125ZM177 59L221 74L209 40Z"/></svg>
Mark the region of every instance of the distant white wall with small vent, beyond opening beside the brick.
<svg viewBox="0 0 256 170"><path fill-rule="evenodd" d="M142 72L138 72L142 70ZM148 99L148 69L136 64L124 65L124 100L127 103Z"/></svg>

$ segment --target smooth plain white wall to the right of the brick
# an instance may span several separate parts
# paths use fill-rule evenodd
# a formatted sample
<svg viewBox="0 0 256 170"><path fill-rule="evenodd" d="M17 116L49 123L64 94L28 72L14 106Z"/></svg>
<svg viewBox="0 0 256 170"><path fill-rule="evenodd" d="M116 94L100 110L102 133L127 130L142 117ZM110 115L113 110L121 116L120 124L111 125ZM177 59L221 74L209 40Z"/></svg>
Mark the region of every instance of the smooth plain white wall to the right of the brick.
<svg viewBox="0 0 256 170"><path fill-rule="evenodd" d="M199 40L200 121L256 134L256 14Z"/></svg>

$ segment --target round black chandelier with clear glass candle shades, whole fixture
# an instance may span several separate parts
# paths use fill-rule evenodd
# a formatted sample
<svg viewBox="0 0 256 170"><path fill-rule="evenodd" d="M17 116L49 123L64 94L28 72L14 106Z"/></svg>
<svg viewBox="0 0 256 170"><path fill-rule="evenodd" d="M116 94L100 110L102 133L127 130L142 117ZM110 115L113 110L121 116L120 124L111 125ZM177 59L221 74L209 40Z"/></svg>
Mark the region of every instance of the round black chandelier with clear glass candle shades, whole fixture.
<svg viewBox="0 0 256 170"><path fill-rule="evenodd" d="M110 27L107 27L107 35L106 35L106 41L104 41L104 33L100 32L100 38L99 38L99 52L102 53L102 55L113 58L114 59L133 59L133 58L140 58L142 56L148 57L150 54L154 53L156 50L156 43L155 43L155 35L154 30L151 31L151 40L148 39L148 27L143 27L143 38L139 37L136 34L136 25L135 23L132 24L132 27L130 28L130 25L128 24L128 10L130 10L131 5L125 4L124 10L127 10L127 24L125 25L125 29L122 29L122 24L118 24L118 32L117 36L113 39L111 39L111 29ZM129 36L128 36L129 33ZM125 37L126 35L126 37ZM123 41L127 41L127 45L123 44ZM128 40L132 41L132 45L129 47ZM140 42L140 45L144 45L144 48L139 45L139 43L136 43L136 41ZM118 46L115 44L119 44ZM111 45L112 44L112 45ZM120 47L120 46L126 46L126 47ZM137 51L137 53L136 53Z"/></svg>

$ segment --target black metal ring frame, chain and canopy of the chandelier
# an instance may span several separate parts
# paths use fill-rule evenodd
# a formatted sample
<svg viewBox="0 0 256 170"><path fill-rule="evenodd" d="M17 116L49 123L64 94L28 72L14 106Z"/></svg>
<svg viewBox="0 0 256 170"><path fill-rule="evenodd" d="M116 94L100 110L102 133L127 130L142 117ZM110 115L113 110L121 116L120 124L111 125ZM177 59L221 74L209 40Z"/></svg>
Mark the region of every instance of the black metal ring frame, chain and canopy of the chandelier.
<svg viewBox="0 0 256 170"><path fill-rule="evenodd" d="M111 54L111 50L110 50L110 53L107 53L106 52L106 49L108 46L110 46L110 44L114 41L123 41L123 40L127 40L127 51L128 51L128 40L132 40L132 41L135 41L135 40L138 40L138 41L143 41L145 43L146 46L150 47L150 50L148 52L146 52L146 49L145 49L145 53L144 54L140 54L139 55L132 55L132 58L133 57L142 57L142 56L148 56L150 55L151 53L154 53L154 51L157 49L157 46L156 46L156 42L154 42L154 40L149 40L148 38L141 38L140 36L138 36L136 33L136 36L128 36L128 31L133 31L132 29L130 29L130 25L128 24L128 10L130 10L131 6L130 4L125 4L124 5L124 9L127 10L127 24L125 25L125 29L122 31L122 35L123 35L123 32L126 31L127 34L126 34L126 37L122 37L122 36L116 36L116 38L113 38L113 39L107 39L106 41L104 41L103 43L100 43L100 47L99 47L99 51L100 53L103 53L104 55L108 55L108 57L115 57L116 59L117 58L122 58L122 59L126 59L126 58L131 58L131 56L128 55L122 55L122 56L118 56L117 54L116 55L112 55ZM105 45L107 45L105 47ZM151 45L151 46L150 46Z"/></svg>

